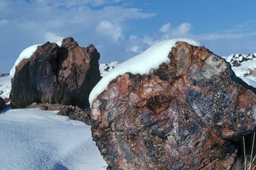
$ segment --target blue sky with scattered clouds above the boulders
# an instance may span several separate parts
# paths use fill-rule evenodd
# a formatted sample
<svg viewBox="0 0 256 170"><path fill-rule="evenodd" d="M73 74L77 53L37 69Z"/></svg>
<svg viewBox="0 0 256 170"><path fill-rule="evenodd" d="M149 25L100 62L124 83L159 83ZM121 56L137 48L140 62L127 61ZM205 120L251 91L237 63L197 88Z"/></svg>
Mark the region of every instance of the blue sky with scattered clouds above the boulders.
<svg viewBox="0 0 256 170"><path fill-rule="evenodd" d="M72 36L99 63L187 37L217 55L256 52L255 0L0 0L0 73L34 44Z"/></svg>

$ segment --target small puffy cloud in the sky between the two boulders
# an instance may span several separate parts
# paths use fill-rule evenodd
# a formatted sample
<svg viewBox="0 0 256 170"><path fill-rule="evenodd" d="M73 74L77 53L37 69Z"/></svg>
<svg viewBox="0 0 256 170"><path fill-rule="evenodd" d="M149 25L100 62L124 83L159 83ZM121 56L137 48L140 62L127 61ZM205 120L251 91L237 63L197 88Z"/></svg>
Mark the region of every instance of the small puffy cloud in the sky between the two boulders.
<svg viewBox="0 0 256 170"><path fill-rule="evenodd" d="M115 41L118 41L118 38L122 35L122 29L108 20L101 21L96 27L96 31L110 36Z"/></svg>

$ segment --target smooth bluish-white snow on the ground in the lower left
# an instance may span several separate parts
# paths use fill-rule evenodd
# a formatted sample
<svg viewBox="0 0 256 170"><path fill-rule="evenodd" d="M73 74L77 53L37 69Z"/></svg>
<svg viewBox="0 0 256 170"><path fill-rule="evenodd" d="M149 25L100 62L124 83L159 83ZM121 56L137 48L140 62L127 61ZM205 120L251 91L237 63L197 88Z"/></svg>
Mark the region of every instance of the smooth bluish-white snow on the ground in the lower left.
<svg viewBox="0 0 256 170"><path fill-rule="evenodd" d="M57 112L0 112L0 170L106 170L91 126Z"/></svg>

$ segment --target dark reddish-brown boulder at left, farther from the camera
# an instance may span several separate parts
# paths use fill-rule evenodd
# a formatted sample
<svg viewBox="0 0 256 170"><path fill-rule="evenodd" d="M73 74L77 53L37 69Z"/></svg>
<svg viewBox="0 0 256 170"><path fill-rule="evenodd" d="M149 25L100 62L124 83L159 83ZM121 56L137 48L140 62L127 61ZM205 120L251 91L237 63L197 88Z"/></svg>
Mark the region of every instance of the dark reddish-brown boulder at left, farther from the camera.
<svg viewBox="0 0 256 170"><path fill-rule="evenodd" d="M62 46L47 42L16 67L10 93L11 107L33 102L89 108L89 94L100 80L99 53L93 45L81 48L73 38Z"/></svg>

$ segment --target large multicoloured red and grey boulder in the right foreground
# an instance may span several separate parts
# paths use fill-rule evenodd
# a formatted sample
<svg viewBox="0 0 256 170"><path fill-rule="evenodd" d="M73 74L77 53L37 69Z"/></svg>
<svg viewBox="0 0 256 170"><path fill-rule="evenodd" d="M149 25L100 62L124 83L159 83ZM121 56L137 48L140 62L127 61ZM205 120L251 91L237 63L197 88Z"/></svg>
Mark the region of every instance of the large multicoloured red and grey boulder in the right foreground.
<svg viewBox="0 0 256 170"><path fill-rule="evenodd" d="M149 75L118 76L93 101L100 153L117 170L240 169L256 95L203 47L178 42L168 57Z"/></svg>

